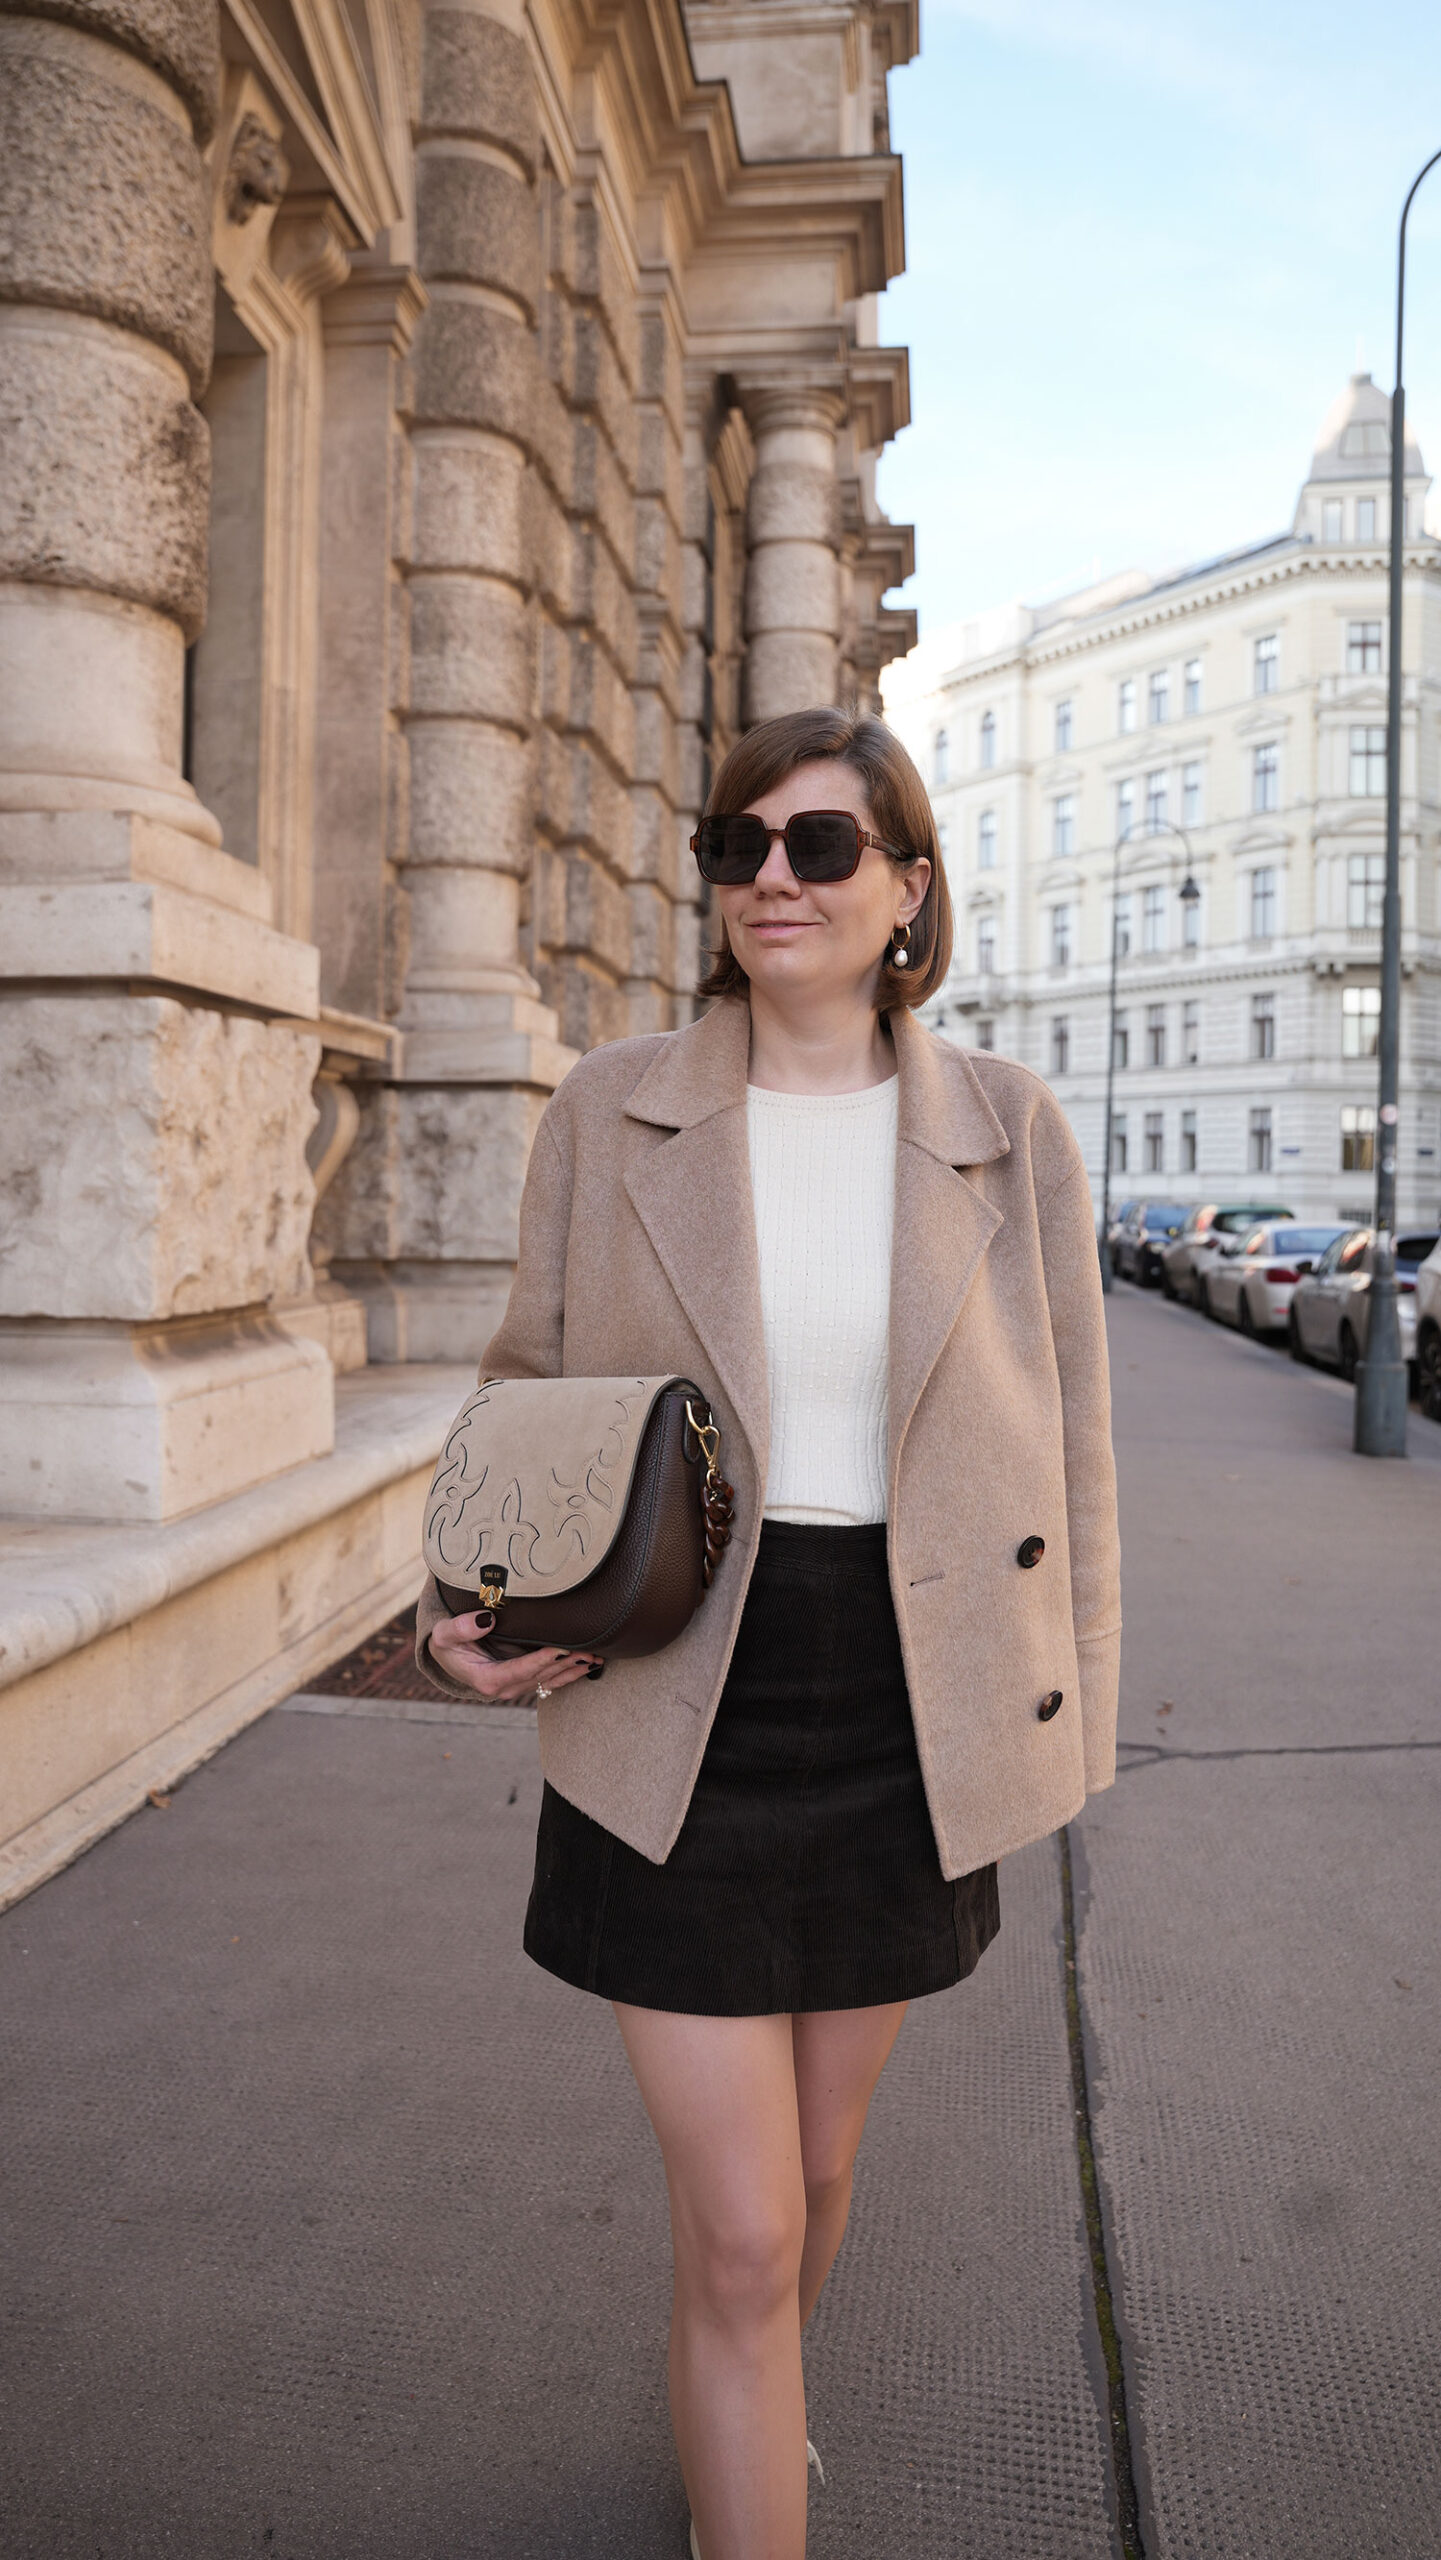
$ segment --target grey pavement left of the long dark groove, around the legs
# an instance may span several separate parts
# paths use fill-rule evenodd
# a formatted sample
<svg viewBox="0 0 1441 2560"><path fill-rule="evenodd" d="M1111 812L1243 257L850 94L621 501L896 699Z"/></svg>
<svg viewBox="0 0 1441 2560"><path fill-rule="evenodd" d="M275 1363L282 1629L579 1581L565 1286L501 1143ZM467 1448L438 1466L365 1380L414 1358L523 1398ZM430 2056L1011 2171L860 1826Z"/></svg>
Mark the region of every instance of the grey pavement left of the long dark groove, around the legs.
<svg viewBox="0 0 1441 2560"><path fill-rule="evenodd" d="M512 1720L271 1715L0 1923L5 2560L681 2560L660 2163ZM1106 2560L1055 1848L883 2081L816 2560Z"/></svg>

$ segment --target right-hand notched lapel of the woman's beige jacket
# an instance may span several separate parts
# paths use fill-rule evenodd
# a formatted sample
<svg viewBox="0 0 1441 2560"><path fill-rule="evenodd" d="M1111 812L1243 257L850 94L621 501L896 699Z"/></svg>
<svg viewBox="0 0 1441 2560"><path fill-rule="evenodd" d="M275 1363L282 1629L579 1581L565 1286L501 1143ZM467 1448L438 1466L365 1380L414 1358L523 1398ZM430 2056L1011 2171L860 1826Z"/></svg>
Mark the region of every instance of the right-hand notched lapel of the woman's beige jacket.
<svg viewBox="0 0 1441 2560"><path fill-rule="evenodd" d="M901 1078L896 1124L896 1234L891 1247L891 1495L924 1385L965 1306L1001 1211L960 1165L988 1165L1011 1142L960 1050L891 1014Z"/></svg>

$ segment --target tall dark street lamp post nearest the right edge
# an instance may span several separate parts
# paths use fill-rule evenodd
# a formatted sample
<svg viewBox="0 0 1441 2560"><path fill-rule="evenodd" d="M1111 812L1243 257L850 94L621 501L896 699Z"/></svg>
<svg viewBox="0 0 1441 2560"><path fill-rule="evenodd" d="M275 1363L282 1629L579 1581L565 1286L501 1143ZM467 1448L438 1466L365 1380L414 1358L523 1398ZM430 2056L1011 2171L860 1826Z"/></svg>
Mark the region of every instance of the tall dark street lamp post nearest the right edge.
<svg viewBox="0 0 1441 2560"><path fill-rule="evenodd" d="M1426 169L1441 161L1433 151ZM1377 1216L1367 1308L1367 1357L1357 1364L1357 1423L1351 1446L1362 1457L1405 1457L1408 1377L1400 1357L1395 1295L1395 1134L1400 1088L1400 604L1405 568L1405 220L1426 169L1410 182L1400 207L1395 259L1395 392L1390 394L1390 684L1387 684L1387 868L1382 904L1382 1019L1377 1032Z"/></svg>

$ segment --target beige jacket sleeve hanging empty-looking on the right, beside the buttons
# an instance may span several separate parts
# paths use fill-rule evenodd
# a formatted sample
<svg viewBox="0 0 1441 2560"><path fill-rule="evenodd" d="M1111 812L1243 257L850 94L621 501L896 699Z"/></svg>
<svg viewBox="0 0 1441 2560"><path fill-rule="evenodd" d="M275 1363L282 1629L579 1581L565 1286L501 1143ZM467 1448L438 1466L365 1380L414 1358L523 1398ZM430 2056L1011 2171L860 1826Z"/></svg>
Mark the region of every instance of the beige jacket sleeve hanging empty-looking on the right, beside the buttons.
<svg viewBox="0 0 1441 2560"><path fill-rule="evenodd" d="M1093 1795L1116 1777L1121 1536L1116 1526L1111 1362L1106 1357L1101 1254L1095 1249L1090 1183L1075 1139L1070 1139L1067 1152L1072 1157L1070 1170L1037 1203L1037 1216L1060 1370L1070 1605L1080 1664L1085 1789Z"/></svg>

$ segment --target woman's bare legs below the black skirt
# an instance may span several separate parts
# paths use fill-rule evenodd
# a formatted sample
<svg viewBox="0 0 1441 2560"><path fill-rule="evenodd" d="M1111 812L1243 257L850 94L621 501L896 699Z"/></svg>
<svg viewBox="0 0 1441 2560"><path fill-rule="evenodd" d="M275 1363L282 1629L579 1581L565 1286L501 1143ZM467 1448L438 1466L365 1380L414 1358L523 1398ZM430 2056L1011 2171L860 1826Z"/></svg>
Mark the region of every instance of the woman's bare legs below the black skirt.
<svg viewBox="0 0 1441 2560"><path fill-rule="evenodd" d="M671 2419L704 2560L804 2560L801 2319L906 2010L614 2015L671 2191Z"/></svg>

